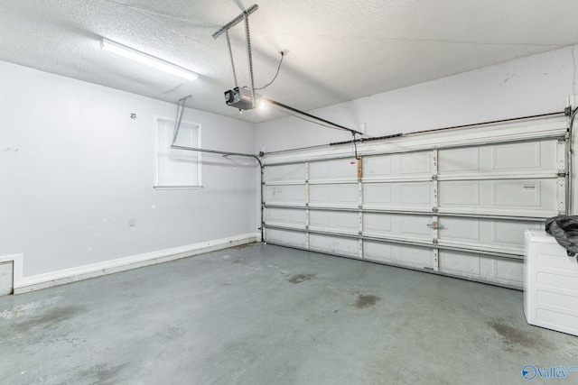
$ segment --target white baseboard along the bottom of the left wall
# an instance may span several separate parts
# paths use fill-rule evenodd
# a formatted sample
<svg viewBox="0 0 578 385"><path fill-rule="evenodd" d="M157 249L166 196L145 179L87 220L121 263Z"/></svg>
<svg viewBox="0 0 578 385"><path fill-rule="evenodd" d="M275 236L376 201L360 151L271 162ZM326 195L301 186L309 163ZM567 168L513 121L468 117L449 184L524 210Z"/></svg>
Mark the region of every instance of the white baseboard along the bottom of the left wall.
<svg viewBox="0 0 578 385"><path fill-rule="evenodd" d="M217 250L227 249L228 247L238 246L239 244L253 243L260 240L261 234L243 234L209 242L174 247L172 249L161 250L158 252L146 252L144 254L119 258L117 260L92 263L65 270L51 271L30 277L22 276L22 254L0 257L0 261L3 261L4 258L12 258L7 261L14 261L14 294L22 294L33 290L51 288L52 286L65 285L79 280L89 280L91 278L113 274L119 271L137 269L157 263L179 260L204 252L215 252Z"/></svg>

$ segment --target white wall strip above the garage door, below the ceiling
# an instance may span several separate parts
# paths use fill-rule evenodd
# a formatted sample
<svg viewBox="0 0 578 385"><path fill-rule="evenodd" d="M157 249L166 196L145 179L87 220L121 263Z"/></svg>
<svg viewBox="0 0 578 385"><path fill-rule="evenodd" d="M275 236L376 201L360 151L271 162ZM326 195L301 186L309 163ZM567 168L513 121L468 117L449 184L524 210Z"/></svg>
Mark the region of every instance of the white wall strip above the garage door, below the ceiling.
<svg viewBox="0 0 578 385"><path fill-rule="evenodd" d="M574 50L576 52L574 53ZM562 111L575 95L578 46L512 60L312 111L369 136ZM352 77L355 74L351 74ZM294 117L259 124L257 150L280 151L350 140L351 135Z"/></svg>

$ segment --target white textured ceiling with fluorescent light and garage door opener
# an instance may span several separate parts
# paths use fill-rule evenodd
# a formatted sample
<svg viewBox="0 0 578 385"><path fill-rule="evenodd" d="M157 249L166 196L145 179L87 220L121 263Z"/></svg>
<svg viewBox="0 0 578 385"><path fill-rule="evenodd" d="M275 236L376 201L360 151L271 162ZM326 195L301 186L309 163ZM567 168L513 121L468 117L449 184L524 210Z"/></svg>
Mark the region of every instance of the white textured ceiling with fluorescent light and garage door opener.
<svg viewBox="0 0 578 385"><path fill-rule="evenodd" d="M255 0L256 87L303 111L578 42L575 0ZM234 87L225 35L253 0L0 0L0 60L262 122L278 111L225 105ZM230 31L248 85L244 26ZM194 82L101 50L105 37L200 74Z"/></svg>

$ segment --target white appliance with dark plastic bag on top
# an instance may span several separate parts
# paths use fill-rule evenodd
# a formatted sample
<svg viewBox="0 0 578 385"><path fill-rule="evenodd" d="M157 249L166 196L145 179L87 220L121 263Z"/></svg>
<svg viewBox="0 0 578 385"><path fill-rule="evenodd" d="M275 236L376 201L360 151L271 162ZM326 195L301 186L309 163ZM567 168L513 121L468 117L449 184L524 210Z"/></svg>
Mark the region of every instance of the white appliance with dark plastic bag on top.
<svg viewBox="0 0 578 385"><path fill-rule="evenodd" d="M525 240L527 323L578 335L578 262L544 230L526 230Z"/></svg>

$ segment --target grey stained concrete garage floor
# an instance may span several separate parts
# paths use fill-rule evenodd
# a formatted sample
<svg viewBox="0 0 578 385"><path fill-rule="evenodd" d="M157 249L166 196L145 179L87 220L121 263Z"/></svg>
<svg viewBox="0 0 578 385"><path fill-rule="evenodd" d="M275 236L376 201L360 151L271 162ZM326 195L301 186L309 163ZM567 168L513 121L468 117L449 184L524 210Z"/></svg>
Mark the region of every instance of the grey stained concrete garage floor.
<svg viewBox="0 0 578 385"><path fill-rule="evenodd" d="M578 337L522 307L516 290L254 243L0 298L0 383L493 385L578 365Z"/></svg>

